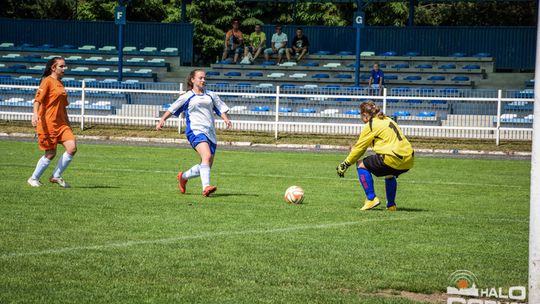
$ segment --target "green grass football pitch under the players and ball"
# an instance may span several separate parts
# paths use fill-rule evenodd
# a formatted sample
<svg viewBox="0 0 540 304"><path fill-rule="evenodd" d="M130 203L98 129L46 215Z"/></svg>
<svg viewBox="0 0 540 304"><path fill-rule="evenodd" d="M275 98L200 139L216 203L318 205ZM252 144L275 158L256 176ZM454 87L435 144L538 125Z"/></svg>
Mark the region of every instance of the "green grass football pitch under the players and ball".
<svg viewBox="0 0 540 304"><path fill-rule="evenodd" d="M187 148L80 144L71 189L26 184L35 143L0 153L0 303L417 303L400 292L444 295L462 269L527 286L530 161L418 157L392 213L358 211L344 154L218 150L203 198L178 192Z"/></svg>

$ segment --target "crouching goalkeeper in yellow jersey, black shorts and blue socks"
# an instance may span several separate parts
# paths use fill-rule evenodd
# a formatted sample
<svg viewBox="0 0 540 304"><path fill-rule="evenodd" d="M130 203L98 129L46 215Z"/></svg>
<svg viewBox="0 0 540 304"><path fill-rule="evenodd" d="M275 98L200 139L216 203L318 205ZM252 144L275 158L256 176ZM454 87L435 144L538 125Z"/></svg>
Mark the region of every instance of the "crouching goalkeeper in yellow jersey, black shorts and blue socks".
<svg viewBox="0 0 540 304"><path fill-rule="evenodd" d="M363 102L360 112L365 125L347 158L337 166L337 174L344 177L349 166L357 164L358 178L366 192L366 201L361 210L370 210L380 204L371 174L384 176L386 209L396 211L396 178L413 167L414 150L398 125L384 115L373 101ZM368 147L376 154L360 160Z"/></svg>

